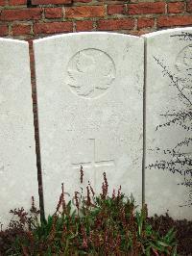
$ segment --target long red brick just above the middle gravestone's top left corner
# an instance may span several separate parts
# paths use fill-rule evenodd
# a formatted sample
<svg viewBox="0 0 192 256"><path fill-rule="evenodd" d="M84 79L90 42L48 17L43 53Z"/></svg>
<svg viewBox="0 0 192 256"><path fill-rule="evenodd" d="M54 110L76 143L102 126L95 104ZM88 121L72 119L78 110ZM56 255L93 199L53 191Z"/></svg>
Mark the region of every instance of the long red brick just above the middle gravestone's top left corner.
<svg viewBox="0 0 192 256"><path fill-rule="evenodd" d="M34 25L35 34L54 34L54 33L72 32L72 31L73 31L73 24L70 21L36 23Z"/></svg>

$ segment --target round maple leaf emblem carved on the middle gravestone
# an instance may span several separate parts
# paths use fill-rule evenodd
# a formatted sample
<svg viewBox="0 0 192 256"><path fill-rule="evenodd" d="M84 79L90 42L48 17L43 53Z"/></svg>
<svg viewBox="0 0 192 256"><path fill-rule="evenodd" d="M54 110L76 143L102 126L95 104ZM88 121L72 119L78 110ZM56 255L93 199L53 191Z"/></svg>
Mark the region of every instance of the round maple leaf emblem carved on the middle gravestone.
<svg viewBox="0 0 192 256"><path fill-rule="evenodd" d="M115 65L106 52L84 49L67 66L67 84L75 94L95 98L107 92L115 79Z"/></svg>

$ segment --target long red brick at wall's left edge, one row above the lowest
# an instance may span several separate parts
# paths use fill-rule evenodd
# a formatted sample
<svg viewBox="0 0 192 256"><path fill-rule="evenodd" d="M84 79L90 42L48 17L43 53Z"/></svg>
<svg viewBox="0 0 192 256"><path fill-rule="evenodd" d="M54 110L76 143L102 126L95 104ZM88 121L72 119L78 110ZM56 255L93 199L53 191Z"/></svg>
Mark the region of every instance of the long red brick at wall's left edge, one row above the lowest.
<svg viewBox="0 0 192 256"><path fill-rule="evenodd" d="M29 20L29 19L40 19L41 9L17 9L17 10L3 10L0 15L0 20Z"/></svg>

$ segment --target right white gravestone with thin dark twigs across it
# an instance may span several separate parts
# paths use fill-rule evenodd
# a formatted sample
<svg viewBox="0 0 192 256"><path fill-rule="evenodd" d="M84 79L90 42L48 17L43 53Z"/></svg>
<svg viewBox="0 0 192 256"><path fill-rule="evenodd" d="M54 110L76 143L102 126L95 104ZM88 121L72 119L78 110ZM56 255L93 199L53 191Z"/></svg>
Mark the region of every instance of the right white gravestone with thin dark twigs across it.
<svg viewBox="0 0 192 256"><path fill-rule="evenodd" d="M192 28L146 39L145 198L150 215L192 218Z"/></svg>

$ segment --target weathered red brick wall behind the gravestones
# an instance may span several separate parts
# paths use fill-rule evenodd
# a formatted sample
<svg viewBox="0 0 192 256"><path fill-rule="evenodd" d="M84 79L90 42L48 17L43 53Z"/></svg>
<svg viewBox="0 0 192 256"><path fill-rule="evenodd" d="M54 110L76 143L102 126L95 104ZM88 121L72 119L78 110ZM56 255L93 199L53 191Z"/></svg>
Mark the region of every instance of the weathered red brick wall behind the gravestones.
<svg viewBox="0 0 192 256"><path fill-rule="evenodd" d="M190 25L192 0L0 0L0 37L104 30L141 35Z"/></svg>

